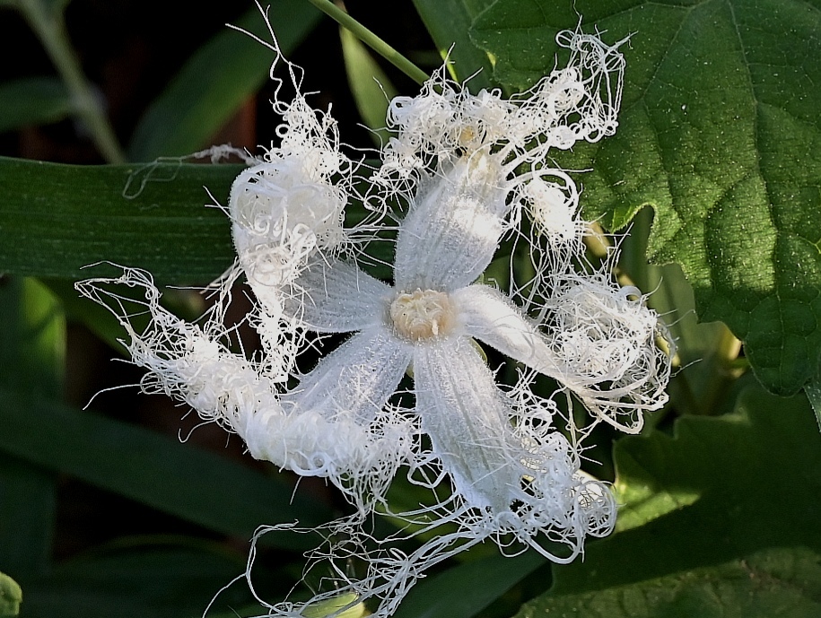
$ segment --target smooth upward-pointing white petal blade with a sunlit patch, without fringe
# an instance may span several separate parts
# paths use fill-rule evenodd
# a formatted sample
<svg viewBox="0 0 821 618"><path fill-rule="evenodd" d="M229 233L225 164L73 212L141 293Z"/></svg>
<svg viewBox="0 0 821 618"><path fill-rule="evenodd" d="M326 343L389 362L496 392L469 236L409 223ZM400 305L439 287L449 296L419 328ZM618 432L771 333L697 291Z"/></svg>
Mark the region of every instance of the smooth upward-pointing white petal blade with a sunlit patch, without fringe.
<svg viewBox="0 0 821 618"><path fill-rule="evenodd" d="M485 271L502 237L504 174L489 156L462 159L420 187L399 230L400 292L450 292Z"/></svg>

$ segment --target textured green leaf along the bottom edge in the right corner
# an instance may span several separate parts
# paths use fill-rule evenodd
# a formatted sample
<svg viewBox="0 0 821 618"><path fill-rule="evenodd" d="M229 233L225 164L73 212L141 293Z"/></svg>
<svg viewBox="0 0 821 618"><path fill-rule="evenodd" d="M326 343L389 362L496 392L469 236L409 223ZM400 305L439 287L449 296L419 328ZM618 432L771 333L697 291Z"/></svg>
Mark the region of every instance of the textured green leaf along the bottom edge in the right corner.
<svg viewBox="0 0 821 618"><path fill-rule="evenodd" d="M543 597L518 618L812 618L821 615L821 554L771 549L723 564L578 595Z"/></svg>

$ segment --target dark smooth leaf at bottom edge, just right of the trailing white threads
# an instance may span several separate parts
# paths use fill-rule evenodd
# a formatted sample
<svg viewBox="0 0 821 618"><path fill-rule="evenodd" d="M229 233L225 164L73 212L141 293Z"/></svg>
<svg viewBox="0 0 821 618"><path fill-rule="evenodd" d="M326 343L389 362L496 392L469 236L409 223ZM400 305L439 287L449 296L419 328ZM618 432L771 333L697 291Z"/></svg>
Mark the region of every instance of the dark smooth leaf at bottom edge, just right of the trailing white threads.
<svg viewBox="0 0 821 618"><path fill-rule="evenodd" d="M459 564L416 584L394 618L470 618L545 563L530 551Z"/></svg>

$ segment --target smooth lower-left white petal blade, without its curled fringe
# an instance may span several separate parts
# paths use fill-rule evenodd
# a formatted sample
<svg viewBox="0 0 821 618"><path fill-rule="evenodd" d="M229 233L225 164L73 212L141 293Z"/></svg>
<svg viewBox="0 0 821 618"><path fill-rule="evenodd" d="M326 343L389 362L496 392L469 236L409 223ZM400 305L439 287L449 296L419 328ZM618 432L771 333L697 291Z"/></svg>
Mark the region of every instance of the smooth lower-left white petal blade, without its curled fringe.
<svg viewBox="0 0 821 618"><path fill-rule="evenodd" d="M412 346L386 326L369 326L319 361L282 397L286 413L313 411L326 420L367 426L380 416L410 364Z"/></svg>

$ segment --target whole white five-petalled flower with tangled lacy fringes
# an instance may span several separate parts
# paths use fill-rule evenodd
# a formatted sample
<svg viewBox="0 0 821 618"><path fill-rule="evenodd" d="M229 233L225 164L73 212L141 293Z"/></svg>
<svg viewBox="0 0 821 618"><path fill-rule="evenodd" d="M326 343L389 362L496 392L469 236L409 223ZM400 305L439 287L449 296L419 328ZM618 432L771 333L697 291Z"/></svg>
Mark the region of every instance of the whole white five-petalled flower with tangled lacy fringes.
<svg viewBox="0 0 821 618"><path fill-rule="evenodd" d="M570 64L509 100L500 91L473 95L442 76L415 98L393 100L394 137L365 196L354 183L368 174L342 152L329 111L310 107L301 70L267 44L296 94L284 100L279 83L281 144L231 187L226 210L238 260L214 309L199 324L175 318L150 276L133 269L78 284L126 327L133 360L149 370L144 390L236 432L253 457L328 479L354 507L324 527L259 530L323 539L306 568L306 578L319 573L315 596L260 599L267 615L296 618L324 606L338 615L367 602L387 617L424 570L472 545L491 540L505 553L533 548L568 562L586 537L613 529L607 483L581 471L590 427L575 426L567 400L578 397L593 423L638 431L642 413L666 400L669 354L656 345L665 331L638 291L618 289L604 271L575 268L585 227L579 192L568 172L552 167L550 152L615 131L624 60L618 45L590 35L562 32L557 40L571 50ZM372 216L345 227L354 197ZM362 269L357 243L382 241L375 232L391 200L401 223L389 240L396 246L388 284ZM520 231L523 213L530 232ZM511 295L476 283L505 235L533 243L537 269ZM231 352L223 326L240 275L257 300L248 321L262 352L253 358ZM112 292L117 284L144 290L141 310L151 322L143 332ZM339 333L352 335L307 373L297 369L316 337ZM500 387L480 345L528 371ZM554 396L531 392L537 373L555 379ZM430 500L393 509L386 492L397 474L429 490ZM368 532L380 515L400 522L395 533Z"/></svg>

